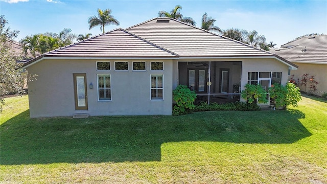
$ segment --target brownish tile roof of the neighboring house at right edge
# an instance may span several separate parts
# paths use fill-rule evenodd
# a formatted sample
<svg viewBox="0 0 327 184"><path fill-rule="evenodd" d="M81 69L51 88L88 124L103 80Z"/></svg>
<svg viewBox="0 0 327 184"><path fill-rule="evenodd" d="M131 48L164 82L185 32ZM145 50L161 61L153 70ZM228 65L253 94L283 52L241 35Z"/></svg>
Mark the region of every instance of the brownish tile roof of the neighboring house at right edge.
<svg viewBox="0 0 327 184"><path fill-rule="evenodd" d="M306 36L271 51L291 62L327 64L327 35Z"/></svg>

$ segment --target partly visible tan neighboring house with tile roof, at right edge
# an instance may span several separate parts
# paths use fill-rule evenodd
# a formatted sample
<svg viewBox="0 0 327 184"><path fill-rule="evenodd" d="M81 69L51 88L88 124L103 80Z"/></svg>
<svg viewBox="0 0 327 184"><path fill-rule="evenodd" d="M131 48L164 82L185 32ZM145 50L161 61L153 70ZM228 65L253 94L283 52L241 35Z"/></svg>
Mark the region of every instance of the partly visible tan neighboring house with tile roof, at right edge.
<svg viewBox="0 0 327 184"><path fill-rule="evenodd" d="M301 79L301 75L315 76L317 91L315 95L321 96L327 93L327 35L314 35L301 37L282 45L281 49L270 51L288 61L298 65L298 70L291 71L294 79ZM309 91L305 86L299 86L302 91Z"/></svg>

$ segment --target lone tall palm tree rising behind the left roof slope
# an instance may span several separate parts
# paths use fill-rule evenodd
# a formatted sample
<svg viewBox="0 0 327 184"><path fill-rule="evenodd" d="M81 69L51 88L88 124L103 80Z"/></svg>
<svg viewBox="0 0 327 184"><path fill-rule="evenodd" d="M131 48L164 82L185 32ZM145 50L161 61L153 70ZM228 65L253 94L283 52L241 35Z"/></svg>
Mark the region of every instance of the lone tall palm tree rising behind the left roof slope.
<svg viewBox="0 0 327 184"><path fill-rule="evenodd" d="M88 17L88 24L90 26L90 29L100 26L100 29L104 33L104 26L106 25L119 25L119 21L111 15L111 10L106 9L105 11L102 11L98 8L98 17L97 16L90 16Z"/></svg>

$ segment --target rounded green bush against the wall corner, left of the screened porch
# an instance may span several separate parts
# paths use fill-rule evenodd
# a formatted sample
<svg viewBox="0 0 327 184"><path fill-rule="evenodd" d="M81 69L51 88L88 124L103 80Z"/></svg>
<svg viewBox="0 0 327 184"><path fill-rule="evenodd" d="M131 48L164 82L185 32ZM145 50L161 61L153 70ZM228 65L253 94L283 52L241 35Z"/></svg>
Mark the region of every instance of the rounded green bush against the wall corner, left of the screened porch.
<svg viewBox="0 0 327 184"><path fill-rule="evenodd" d="M173 90L173 100L176 102L173 108L173 115L181 115L190 113L194 109L194 101L196 94L191 91L188 86L178 85Z"/></svg>

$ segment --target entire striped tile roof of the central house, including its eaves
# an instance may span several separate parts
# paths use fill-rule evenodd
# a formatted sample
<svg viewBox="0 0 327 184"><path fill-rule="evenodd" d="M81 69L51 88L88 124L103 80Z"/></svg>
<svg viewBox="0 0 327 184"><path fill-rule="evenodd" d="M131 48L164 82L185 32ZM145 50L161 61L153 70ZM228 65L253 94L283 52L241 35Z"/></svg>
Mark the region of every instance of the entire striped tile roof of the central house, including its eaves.
<svg viewBox="0 0 327 184"><path fill-rule="evenodd" d="M295 64L264 50L210 33L173 18L153 18L125 29L116 29L67 45L35 58L188 58L188 57L273 57L292 68Z"/></svg>

